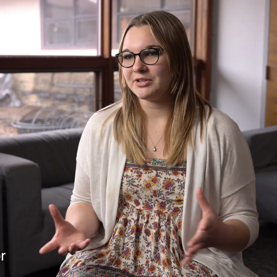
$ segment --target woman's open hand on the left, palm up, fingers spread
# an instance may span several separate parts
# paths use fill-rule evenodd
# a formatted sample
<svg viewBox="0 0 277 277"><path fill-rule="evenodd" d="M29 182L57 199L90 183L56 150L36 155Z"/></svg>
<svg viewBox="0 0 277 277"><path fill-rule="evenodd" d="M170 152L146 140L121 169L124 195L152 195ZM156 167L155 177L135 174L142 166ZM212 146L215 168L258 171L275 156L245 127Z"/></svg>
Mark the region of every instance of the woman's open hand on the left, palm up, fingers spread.
<svg viewBox="0 0 277 277"><path fill-rule="evenodd" d="M54 205L49 205L49 211L54 219L56 232L50 242L39 250L40 254L45 254L58 248L60 255L66 255L67 253L73 255L76 251L87 247L90 239L87 239L83 232L66 221Z"/></svg>

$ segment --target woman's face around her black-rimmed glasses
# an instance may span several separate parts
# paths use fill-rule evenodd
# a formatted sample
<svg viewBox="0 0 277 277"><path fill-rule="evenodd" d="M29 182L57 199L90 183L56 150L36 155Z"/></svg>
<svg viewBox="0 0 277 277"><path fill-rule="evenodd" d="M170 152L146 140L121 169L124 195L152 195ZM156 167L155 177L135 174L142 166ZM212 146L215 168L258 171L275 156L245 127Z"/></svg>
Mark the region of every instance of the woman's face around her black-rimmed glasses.
<svg viewBox="0 0 277 277"><path fill-rule="evenodd" d="M149 26L132 27L124 38L122 51L137 54L149 46L161 48L151 34ZM164 51L160 51L159 60L153 65L147 65L139 56L135 56L134 65L128 68L122 67L122 71L130 90L139 99L161 102L169 97L169 66ZM137 78L147 81L139 82Z"/></svg>

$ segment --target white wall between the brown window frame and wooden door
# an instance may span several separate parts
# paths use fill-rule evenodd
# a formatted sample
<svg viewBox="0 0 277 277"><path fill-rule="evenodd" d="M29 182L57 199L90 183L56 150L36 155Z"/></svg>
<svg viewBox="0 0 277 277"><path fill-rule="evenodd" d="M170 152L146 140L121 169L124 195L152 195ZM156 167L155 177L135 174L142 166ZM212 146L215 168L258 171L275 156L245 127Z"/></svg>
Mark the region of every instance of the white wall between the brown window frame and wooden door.
<svg viewBox="0 0 277 277"><path fill-rule="evenodd" d="M269 3L214 0L211 104L242 131L264 126Z"/></svg>

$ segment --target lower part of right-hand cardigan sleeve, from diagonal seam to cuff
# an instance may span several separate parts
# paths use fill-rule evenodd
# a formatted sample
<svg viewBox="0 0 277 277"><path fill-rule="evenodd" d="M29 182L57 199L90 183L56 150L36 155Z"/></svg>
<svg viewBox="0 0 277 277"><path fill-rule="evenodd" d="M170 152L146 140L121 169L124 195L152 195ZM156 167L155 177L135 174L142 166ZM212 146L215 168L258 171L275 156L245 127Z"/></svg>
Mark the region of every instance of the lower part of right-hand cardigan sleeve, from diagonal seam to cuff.
<svg viewBox="0 0 277 277"><path fill-rule="evenodd" d="M255 181L221 199L219 216L223 222L229 219L242 221L250 231L246 248L253 244L259 235Z"/></svg>

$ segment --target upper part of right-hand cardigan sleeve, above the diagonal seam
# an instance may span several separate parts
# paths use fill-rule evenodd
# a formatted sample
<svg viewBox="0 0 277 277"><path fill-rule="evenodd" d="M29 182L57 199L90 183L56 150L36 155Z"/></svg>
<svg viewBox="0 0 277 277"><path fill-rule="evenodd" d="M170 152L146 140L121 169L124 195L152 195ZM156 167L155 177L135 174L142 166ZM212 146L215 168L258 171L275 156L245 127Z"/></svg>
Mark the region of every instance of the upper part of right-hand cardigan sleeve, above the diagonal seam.
<svg viewBox="0 0 277 277"><path fill-rule="evenodd" d="M220 167L217 174L222 199L255 181L255 172L249 147L237 123L220 113L213 118L211 125L209 155Z"/></svg>

